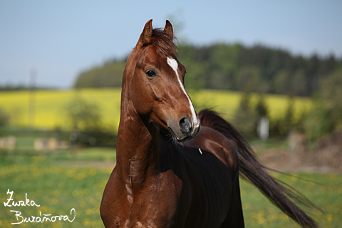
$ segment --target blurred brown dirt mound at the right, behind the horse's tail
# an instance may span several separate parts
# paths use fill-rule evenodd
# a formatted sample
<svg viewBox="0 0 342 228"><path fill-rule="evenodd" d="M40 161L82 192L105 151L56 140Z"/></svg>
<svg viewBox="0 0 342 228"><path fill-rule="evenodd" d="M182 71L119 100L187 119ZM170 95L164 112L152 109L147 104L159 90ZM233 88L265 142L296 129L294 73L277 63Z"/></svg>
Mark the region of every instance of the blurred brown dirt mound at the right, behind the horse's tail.
<svg viewBox="0 0 342 228"><path fill-rule="evenodd" d="M314 150L271 149L260 160L266 167L279 171L342 174L342 132L323 138Z"/></svg>

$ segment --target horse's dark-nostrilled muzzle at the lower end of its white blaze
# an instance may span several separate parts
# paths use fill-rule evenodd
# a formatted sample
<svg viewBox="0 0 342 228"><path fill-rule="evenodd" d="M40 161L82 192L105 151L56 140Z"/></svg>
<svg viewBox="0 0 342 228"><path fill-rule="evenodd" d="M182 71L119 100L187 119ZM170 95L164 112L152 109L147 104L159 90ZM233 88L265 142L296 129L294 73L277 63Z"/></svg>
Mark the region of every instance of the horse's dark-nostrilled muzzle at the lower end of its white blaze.
<svg viewBox="0 0 342 228"><path fill-rule="evenodd" d="M177 142L185 142L195 138L199 131L199 119L197 117L183 116L177 123L172 122L167 125L172 137Z"/></svg>

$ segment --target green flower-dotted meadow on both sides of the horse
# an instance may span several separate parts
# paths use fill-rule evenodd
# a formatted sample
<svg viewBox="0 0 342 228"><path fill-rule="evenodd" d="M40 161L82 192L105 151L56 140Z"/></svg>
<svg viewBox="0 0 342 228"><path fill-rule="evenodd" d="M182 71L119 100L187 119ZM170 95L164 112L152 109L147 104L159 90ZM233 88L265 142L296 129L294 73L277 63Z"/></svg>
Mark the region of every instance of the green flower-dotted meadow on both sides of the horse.
<svg viewBox="0 0 342 228"><path fill-rule="evenodd" d="M75 155L67 151L36 155L0 153L0 227L103 227L99 207L103 189L115 162L114 149L79 150ZM90 162L91 160L91 162ZM81 163L80 163L81 162ZM321 227L341 227L342 224L342 179L334 174L295 174L289 177L273 174L311 199L324 213L306 209ZM242 205L246 227L299 227L274 207L258 190L241 180ZM40 207L4 207L13 191L15 202L33 200ZM26 195L27 194L27 195ZM21 224L15 210L22 217L53 217L68 215L73 222L56 221Z"/></svg>

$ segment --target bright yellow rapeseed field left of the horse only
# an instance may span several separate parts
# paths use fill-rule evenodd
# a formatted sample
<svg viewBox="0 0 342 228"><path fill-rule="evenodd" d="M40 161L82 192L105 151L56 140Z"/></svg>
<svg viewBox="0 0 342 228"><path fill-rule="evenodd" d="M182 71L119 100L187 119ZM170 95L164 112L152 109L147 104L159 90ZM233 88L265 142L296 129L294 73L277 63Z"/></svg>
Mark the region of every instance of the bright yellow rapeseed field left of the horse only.
<svg viewBox="0 0 342 228"><path fill-rule="evenodd" d="M70 126L66 122L66 107L76 95L97 104L103 123L113 129L118 128L120 89L38 90L31 95L27 90L1 92L0 108L11 115L11 125L28 127L32 125L28 116L28 104L33 97L35 128L68 129Z"/></svg>

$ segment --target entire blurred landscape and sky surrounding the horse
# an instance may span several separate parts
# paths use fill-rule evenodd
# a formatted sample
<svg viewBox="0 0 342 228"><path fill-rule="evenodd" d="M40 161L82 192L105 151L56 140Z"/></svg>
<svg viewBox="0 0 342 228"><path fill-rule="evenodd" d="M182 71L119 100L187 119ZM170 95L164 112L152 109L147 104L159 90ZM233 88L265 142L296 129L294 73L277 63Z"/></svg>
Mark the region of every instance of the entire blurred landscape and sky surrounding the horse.
<svg viewBox="0 0 342 228"><path fill-rule="evenodd" d="M168 19L197 112L222 114L266 166L315 181L279 176L326 211L313 212L322 227L338 227L341 9L339 1L0 1L0 199L7 189L19 199L28 192L46 213L77 207L73 223L54 227L103 226L125 62L145 23ZM294 225L242 185L247 225ZM10 227L13 212L0 212L0 227Z"/></svg>

